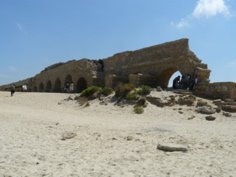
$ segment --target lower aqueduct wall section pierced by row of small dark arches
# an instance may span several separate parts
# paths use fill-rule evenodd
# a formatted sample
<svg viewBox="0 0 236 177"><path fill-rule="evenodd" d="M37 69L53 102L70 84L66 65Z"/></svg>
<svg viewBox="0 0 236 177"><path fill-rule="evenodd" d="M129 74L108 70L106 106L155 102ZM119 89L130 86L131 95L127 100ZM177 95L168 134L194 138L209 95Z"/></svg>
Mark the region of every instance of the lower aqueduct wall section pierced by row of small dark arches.
<svg viewBox="0 0 236 177"><path fill-rule="evenodd" d="M80 81L85 81L86 86L101 85L103 75L101 72L101 65L88 59L78 61L70 61L54 69L48 69L37 74L33 78L31 88L33 91L47 91L47 92L62 92L65 84L74 83L75 90L80 90ZM97 80L101 80L100 83ZM82 84L82 85L83 85ZM56 86L57 85L57 86ZM81 90L80 90L81 91Z"/></svg>

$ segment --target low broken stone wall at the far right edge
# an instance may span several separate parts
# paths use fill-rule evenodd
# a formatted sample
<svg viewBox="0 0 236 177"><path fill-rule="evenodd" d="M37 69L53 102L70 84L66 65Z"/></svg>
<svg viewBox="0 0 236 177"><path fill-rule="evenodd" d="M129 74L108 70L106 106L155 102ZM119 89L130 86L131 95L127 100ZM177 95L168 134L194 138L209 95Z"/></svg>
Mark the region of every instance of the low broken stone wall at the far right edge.
<svg viewBox="0 0 236 177"><path fill-rule="evenodd" d="M234 82L216 82L200 83L194 89L194 93L203 97L213 99L235 99L236 83Z"/></svg>

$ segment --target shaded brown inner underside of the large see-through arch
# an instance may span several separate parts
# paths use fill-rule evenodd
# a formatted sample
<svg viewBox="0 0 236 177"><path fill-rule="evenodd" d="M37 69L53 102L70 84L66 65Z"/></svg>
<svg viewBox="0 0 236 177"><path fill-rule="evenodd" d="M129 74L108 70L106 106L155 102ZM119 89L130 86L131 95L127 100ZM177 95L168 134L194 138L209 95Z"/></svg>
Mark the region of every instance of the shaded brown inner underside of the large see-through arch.
<svg viewBox="0 0 236 177"><path fill-rule="evenodd" d="M179 70L176 68L168 68L163 72L161 72L158 76L158 85L161 86L162 88L167 88L171 76L177 71ZM179 72L181 73L181 71Z"/></svg>

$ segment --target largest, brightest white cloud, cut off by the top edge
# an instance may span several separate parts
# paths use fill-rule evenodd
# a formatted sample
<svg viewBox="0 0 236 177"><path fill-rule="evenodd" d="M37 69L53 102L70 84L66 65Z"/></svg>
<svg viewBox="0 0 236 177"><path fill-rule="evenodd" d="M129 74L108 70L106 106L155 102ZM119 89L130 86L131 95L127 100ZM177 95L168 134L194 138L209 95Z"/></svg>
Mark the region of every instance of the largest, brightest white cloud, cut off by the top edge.
<svg viewBox="0 0 236 177"><path fill-rule="evenodd" d="M224 0L199 0L192 13L196 18L209 18L218 14L230 16L230 10L225 5Z"/></svg>

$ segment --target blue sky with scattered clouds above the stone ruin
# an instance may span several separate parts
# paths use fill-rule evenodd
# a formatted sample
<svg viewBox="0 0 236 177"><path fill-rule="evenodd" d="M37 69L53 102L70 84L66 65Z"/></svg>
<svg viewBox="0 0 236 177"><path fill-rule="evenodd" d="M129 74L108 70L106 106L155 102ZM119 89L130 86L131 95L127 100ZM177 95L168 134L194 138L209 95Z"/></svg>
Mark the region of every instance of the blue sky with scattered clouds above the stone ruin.
<svg viewBox="0 0 236 177"><path fill-rule="evenodd" d="M236 0L0 0L0 85L180 38L211 82L236 82Z"/></svg>

